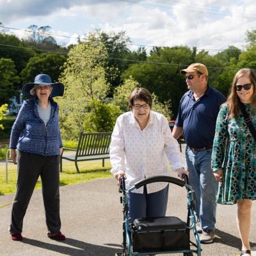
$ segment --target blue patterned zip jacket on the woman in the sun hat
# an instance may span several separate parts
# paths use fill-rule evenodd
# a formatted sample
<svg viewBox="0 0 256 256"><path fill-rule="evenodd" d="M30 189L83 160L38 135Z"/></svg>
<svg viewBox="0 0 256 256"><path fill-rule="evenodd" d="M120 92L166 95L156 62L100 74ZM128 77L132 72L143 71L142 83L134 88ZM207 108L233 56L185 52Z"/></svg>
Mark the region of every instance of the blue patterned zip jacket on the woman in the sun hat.
<svg viewBox="0 0 256 256"><path fill-rule="evenodd" d="M51 116L47 125L39 117L36 97L24 102L13 124L10 148L43 156L58 156L63 147L59 126L58 104L52 100Z"/></svg>

